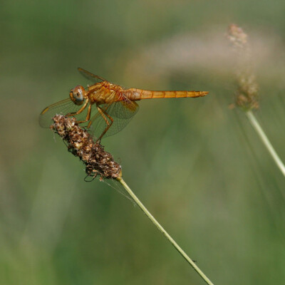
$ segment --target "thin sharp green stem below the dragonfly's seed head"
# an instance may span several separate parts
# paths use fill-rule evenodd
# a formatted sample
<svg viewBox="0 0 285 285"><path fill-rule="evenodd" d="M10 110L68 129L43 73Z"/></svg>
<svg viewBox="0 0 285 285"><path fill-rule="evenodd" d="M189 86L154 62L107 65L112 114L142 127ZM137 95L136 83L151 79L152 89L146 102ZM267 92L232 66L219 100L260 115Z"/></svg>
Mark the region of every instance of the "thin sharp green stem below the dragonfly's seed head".
<svg viewBox="0 0 285 285"><path fill-rule="evenodd" d="M175 242L174 239L172 239L172 237L170 237L170 235L165 231L165 229L163 229L163 227L160 225L159 222L157 222L157 220L155 219L155 217L152 216L152 214L150 214L150 212L148 212L147 208L142 204L142 202L140 202L140 200L138 199L137 196L135 196L135 194L133 193L132 190L130 190L130 187L128 187L128 185L125 183L125 181L123 180L122 177L118 177L117 178L118 182L120 182L121 185L123 185L123 187L125 188L125 190L128 192L128 194L130 195L130 197L133 198L133 200L135 201L136 204L138 204L138 207L140 207L140 209L142 209L142 212L144 212L147 217L152 221L153 224L155 224L155 227L157 227L157 229L160 230L160 232L162 232L162 234L164 234L164 236L170 241L170 243L173 245L173 247L175 247L175 249L177 249L177 251L182 255L182 257L184 257L186 259L186 261L193 267L193 269L195 269L195 271L197 271L197 274L199 274L199 276L202 277L202 279L208 284L208 285L214 285L208 278L207 276L203 273L203 271L201 269L199 269L199 267L195 264L194 261L192 261L192 259L190 259L190 257L187 256L187 254L183 251L183 249Z"/></svg>

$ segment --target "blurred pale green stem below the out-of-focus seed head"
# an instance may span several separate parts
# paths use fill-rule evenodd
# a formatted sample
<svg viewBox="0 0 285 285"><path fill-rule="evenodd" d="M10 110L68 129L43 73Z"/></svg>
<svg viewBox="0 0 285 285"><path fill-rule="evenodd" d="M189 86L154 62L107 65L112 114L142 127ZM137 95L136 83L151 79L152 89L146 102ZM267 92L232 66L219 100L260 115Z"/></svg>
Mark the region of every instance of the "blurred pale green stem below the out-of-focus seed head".
<svg viewBox="0 0 285 285"><path fill-rule="evenodd" d="M277 155L276 151L274 150L274 147L271 145L271 142L269 142L269 139L266 137L264 131L262 130L261 126L259 125L259 122L257 118L255 118L254 114L251 110L246 112L247 118L249 118L249 122L254 127L254 130L257 131L257 134L259 135L259 138L261 138L261 141L264 143L266 149L271 154L271 157L274 159L274 162L279 167L279 170L282 172L282 174L285 176L285 166L280 157Z"/></svg>

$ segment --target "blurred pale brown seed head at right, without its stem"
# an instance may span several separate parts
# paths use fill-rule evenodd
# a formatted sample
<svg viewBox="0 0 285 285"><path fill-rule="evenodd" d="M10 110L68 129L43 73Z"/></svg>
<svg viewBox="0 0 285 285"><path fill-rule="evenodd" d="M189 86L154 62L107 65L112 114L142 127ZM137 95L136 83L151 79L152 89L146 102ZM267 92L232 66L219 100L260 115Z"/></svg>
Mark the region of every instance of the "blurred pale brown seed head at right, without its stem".
<svg viewBox="0 0 285 285"><path fill-rule="evenodd" d="M244 110L258 109L258 85L250 63L251 56L247 33L244 33L239 26L232 24L229 26L227 38L238 55L235 104Z"/></svg>

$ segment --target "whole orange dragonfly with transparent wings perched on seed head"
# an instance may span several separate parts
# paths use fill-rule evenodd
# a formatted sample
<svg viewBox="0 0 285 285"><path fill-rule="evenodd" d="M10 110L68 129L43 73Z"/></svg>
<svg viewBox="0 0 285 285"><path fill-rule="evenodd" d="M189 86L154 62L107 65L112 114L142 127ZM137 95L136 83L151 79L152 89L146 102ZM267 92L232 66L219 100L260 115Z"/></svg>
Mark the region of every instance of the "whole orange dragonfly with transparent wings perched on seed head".
<svg viewBox="0 0 285 285"><path fill-rule="evenodd" d="M86 123L90 133L100 142L103 136L115 135L125 128L135 113L138 112L139 106L135 102L137 100L202 97L208 94L207 91L124 89L83 68L78 68L78 71L88 80L93 81L94 84L88 88L76 86L71 89L68 99L44 108L39 118L41 127L49 128L53 123L51 118L57 113L74 116L78 123ZM96 111L95 114L93 114L93 110Z"/></svg>

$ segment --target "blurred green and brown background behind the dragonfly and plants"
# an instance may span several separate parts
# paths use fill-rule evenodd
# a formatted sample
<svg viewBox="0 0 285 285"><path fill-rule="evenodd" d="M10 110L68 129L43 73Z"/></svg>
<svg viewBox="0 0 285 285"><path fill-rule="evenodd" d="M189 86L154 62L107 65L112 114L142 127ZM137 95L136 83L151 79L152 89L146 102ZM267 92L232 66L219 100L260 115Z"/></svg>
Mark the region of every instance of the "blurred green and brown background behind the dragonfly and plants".
<svg viewBox="0 0 285 285"><path fill-rule="evenodd" d="M214 284L285 284L284 177L229 110L249 33L257 118L284 150L284 0L1 1L0 284L203 284L138 207L84 167L38 114L87 82L207 90L145 100L103 140L123 177Z"/></svg>

